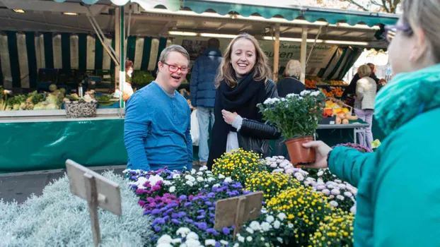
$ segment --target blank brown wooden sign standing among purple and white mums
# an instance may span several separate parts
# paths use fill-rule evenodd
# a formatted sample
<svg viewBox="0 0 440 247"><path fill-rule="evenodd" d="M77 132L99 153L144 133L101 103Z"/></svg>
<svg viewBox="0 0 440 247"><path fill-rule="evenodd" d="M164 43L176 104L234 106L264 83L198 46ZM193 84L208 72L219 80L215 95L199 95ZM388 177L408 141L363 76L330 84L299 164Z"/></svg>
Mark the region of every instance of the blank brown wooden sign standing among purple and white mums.
<svg viewBox="0 0 440 247"><path fill-rule="evenodd" d="M216 202L214 229L220 230L223 227L235 225L233 231L233 240L235 241L241 224L260 217L262 200L262 191L218 200Z"/></svg>

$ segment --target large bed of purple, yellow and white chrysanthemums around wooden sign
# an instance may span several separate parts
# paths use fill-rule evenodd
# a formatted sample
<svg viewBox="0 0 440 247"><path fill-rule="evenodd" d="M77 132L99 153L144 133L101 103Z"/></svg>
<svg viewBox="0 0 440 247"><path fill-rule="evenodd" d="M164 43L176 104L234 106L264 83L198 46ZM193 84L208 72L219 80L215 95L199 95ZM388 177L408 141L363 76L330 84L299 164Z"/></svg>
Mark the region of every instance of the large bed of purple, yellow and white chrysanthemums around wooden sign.
<svg viewBox="0 0 440 247"><path fill-rule="evenodd" d="M156 234L147 246L352 246L349 211L355 212L357 190L327 173L309 176L284 157L236 150L212 171L126 170L125 176L144 215L153 217ZM264 192L260 217L243 224L235 241L234 226L214 229L217 200L257 191Z"/></svg>

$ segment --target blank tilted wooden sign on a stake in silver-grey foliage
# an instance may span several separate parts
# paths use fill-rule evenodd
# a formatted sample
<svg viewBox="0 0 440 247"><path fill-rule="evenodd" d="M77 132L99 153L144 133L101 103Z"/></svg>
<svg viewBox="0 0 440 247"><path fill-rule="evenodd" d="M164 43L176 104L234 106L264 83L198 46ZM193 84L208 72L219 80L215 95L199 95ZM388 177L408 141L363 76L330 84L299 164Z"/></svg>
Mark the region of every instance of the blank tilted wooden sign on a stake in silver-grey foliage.
<svg viewBox="0 0 440 247"><path fill-rule="evenodd" d="M121 192L119 184L105 179L91 169L81 166L71 159L66 160L70 192L87 200L90 213L93 243L100 243L98 207L115 215L122 215Z"/></svg>

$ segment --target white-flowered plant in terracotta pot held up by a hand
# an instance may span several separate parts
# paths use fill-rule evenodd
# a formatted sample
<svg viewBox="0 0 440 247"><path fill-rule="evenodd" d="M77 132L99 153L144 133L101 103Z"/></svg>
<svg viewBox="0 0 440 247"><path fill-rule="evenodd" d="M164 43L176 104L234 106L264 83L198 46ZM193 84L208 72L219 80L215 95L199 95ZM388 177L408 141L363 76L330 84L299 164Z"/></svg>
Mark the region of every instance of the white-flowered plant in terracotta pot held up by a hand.
<svg viewBox="0 0 440 247"><path fill-rule="evenodd" d="M267 99L258 104L263 119L273 123L284 136L291 163L308 164L315 161L315 152L303 147L313 140L318 122L323 118L325 96L319 91L303 91L285 98Z"/></svg>

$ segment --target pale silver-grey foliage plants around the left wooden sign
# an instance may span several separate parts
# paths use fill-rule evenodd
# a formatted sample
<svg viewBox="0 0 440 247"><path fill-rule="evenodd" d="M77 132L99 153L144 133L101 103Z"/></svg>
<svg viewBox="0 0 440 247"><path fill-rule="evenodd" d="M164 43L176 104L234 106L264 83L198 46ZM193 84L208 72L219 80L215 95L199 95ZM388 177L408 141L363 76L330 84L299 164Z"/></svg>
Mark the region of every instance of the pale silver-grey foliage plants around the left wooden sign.
<svg viewBox="0 0 440 247"><path fill-rule="evenodd" d="M103 176L121 186L122 217L98 210L100 246L144 246L153 233L150 218L137 204L139 198L122 176L113 171L105 171ZM70 193L66 175L23 204L1 200L0 232L1 247L93 246L86 200Z"/></svg>

